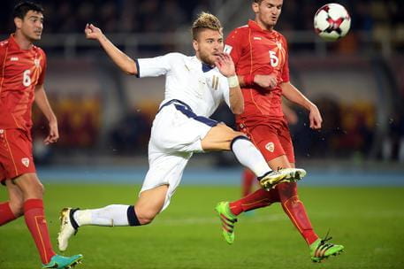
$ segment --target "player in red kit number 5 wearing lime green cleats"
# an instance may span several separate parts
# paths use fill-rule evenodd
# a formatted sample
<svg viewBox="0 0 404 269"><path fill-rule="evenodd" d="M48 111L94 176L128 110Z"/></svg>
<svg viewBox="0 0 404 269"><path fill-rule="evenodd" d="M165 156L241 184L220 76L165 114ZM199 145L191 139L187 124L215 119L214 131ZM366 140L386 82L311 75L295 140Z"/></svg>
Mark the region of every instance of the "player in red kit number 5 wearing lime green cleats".
<svg viewBox="0 0 404 269"><path fill-rule="evenodd" d="M283 0L254 0L255 20L228 35L225 52L232 56L244 96L244 112L236 116L237 126L263 153L271 169L294 167L293 144L282 111L282 96L309 111L313 129L322 125L320 111L289 81L286 38L275 31ZM237 216L244 211L280 203L289 219L309 245L311 259L320 262L339 254L344 247L320 239L311 226L299 199L295 182L282 183L270 191L258 189L231 203L217 204L223 235L234 241ZM327 237L327 236L326 236Z"/></svg>

